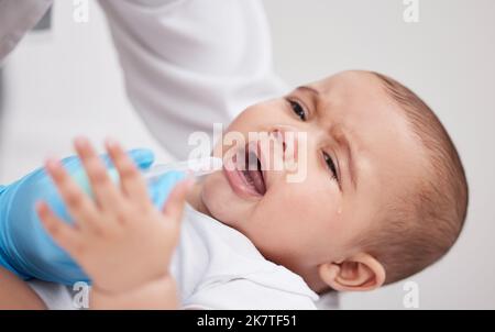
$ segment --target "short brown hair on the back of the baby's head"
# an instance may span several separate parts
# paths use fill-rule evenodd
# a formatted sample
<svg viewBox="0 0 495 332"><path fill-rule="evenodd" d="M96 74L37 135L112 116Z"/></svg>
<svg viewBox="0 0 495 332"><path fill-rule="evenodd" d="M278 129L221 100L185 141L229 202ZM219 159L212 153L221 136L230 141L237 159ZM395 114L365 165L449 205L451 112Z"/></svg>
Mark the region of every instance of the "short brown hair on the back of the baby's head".
<svg viewBox="0 0 495 332"><path fill-rule="evenodd" d="M442 257L464 224L468 181L452 140L433 111L410 89L378 73L426 150L426 176L386 212L385 225L361 242L385 267L385 284L407 278Z"/></svg>

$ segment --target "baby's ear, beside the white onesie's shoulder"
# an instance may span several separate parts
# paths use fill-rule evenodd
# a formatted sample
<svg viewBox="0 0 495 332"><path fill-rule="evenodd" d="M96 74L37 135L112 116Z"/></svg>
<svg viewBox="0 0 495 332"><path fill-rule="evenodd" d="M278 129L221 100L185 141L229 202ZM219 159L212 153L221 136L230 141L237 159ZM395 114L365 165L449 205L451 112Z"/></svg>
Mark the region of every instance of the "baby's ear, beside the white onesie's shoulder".
<svg viewBox="0 0 495 332"><path fill-rule="evenodd" d="M320 278L338 291L364 291L385 283L385 268L366 253L360 253L342 262L324 263L318 267Z"/></svg>

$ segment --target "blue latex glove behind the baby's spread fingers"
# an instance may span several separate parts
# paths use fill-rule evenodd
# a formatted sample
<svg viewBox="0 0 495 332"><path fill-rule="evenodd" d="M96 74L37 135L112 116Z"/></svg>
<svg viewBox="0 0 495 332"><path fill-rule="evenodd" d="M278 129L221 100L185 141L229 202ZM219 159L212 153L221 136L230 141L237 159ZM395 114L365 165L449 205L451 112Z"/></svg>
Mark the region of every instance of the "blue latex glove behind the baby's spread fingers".
<svg viewBox="0 0 495 332"><path fill-rule="evenodd" d="M129 155L143 170L154 163L154 155L148 150L134 150ZM108 156L102 158L109 174L116 175ZM90 190L77 156L62 163L82 189ZM148 182L150 197L155 207L162 209L173 187L185 177L183 171L169 171ZM36 278L65 285L90 283L77 263L44 230L34 208L40 200L46 201L63 220L73 222L44 168L12 185L0 186L0 265L23 279Z"/></svg>

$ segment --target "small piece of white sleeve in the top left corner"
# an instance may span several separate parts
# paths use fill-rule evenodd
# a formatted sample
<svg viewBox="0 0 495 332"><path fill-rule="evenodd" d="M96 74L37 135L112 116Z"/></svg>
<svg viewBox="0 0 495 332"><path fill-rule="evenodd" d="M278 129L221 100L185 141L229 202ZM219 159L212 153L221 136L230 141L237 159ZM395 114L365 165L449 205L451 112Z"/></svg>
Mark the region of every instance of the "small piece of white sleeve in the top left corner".
<svg viewBox="0 0 495 332"><path fill-rule="evenodd" d="M0 0L0 65L53 0Z"/></svg>

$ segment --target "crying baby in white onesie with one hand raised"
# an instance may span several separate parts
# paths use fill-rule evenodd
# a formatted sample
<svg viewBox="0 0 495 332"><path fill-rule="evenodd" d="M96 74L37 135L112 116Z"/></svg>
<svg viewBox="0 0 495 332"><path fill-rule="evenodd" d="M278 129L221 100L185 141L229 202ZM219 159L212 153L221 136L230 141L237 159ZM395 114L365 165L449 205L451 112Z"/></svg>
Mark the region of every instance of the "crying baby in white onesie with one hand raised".
<svg viewBox="0 0 495 332"><path fill-rule="evenodd" d="M116 237L121 241L113 244L95 242L94 250L79 247L80 252L70 232L85 224L91 228L91 222L64 228L46 206L38 208L48 232L91 277L96 308L255 309L277 303L280 308L312 308L317 294L372 290L422 270L452 247L462 230L468 185L455 147L429 107L389 77L340 73L248 108L229 132L242 133L246 141L250 132L273 133L283 147L288 133L306 133L305 179L287 181L284 169L246 175L226 167L194 186L179 185L161 217L135 212L140 209L128 210L127 217L118 213L123 221L143 219L140 225L147 231L133 229L134 237ZM220 142L213 155L229 165L231 157L224 152L231 148L237 147ZM84 159L87 152L79 150ZM297 154L298 147L295 150ZM255 152L261 164L263 155L270 154ZM114 146L109 146L109 153L117 159L122 155ZM123 169L123 179L127 173L134 174ZM52 165L48 171L63 189L62 170ZM139 184L130 180L128 192L134 192L131 196L138 206L140 201L146 206L146 192ZM176 230L160 231L158 224L161 218L172 225L183 219L182 201L188 186L184 220L196 221L185 221L186 235L178 241ZM107 206L119 207L119 200L108 199ZM89 203L79 202L78 209L72 213L76 221L91 220ZM108 213L100 214L105 215ZM95 218L92 222L97 222ZM198 242L202 244L194 244ZM122 261L116 257L132 259L134 252L151 258L128 272L129 276L112 273L122 272L116 263ZM209 254L201 256L202 263L191 258L204 252ZM180 265L182 259L189 263ZM190 267L191 262L205 266ZM166 269L157 268L164 263ZM157 278L170 276L170 272L172 278ZM250 296L254 299L245 306L232 300ZM230 300L217 301L217 297ZM263 306L265 301L270 305Z"/></svg>

